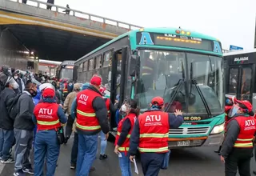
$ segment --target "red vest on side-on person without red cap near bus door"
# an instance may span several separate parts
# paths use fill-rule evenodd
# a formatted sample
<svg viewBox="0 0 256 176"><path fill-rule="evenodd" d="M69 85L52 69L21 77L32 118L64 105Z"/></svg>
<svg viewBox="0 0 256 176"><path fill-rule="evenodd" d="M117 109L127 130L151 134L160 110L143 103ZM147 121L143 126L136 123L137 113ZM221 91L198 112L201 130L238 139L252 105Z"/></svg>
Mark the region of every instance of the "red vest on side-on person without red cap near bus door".
<svg viewBox="0 0 256 176"><path fill-rule="evenodd" d="M119 151L122 151L122 152L127 152L129 150L129 146L130 146L130 134L132 132L132 130L134 129L134 123L135 123L135 120L136 120L136 114L134 113L130 113L128 115L126 115L125 118L122 118L122 120L118 123L118 134L117 136L115 137L115 142L114 142L114 145L116 146L118 144L118 140L120 138L120 134L122 132L122 123L127 119L129 118L130 120L130 124L131 124L131 128L130 128L130 131L128 133L128 135L126 136L126 140L125 142L122 143L122 146L119 146L118 150Z"/></svg>

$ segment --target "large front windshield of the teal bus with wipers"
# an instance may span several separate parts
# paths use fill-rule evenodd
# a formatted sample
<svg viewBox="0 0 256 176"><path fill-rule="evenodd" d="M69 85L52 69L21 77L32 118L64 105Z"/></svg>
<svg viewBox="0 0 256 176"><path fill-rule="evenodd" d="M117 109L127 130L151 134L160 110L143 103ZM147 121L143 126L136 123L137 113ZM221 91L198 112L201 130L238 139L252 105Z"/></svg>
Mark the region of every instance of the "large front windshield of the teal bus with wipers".
<svg viewBox="0 0 256 176"><path fill-rule="evenodd" d="M147 110L151 98L161 96L166 104L170 102L168 112L179 109L186 114L207 114L207 108L211 114L223 112L222 58L162 50L139 50L138 55L137 98L142 111ZM181 80L184 83L179 86Z"/></svg>

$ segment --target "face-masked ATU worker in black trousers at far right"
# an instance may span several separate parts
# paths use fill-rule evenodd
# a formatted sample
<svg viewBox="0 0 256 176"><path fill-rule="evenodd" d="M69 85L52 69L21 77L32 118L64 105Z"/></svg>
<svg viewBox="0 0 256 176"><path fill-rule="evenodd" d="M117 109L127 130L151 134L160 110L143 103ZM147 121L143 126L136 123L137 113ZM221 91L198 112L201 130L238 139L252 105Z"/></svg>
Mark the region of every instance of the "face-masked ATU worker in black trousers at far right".
<svg viewBox="0 0 256 176"><path fill-rule="evenodd" d="M250 159L253 157L253 138L256 120L250 116L252 105L248 101L235 100L228 117L226 137L222 144L221 161L225 163L225 175L250 176Z"/></svg>

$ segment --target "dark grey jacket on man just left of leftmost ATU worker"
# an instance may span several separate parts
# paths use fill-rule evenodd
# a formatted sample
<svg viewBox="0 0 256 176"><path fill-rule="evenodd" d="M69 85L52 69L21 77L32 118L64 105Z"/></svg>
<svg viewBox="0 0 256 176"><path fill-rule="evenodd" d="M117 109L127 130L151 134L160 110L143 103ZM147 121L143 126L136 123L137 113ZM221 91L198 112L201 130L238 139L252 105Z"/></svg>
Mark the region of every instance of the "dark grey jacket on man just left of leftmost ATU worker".
<svg viewBox="0 0 256 176"><path fill-rule="evenodd" d="M14 128L20 130L34 130L32 115L34 112L34 102L29 92L24 91L18 99L18 115L14 121Z"/></svg>

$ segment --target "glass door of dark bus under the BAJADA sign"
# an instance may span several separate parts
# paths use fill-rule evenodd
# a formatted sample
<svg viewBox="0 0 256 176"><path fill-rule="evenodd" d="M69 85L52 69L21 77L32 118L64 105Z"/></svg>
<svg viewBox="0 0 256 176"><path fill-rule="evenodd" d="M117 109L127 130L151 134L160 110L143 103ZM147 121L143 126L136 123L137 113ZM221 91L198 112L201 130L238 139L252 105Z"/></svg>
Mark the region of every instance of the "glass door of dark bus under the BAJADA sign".
<svg viewBox="0 0 256 176"><path fill-rule="evenodd" d="M254 67L250 65L230 66L227 94L235 95L241 100L252 101L254 90Z"/></svg>

